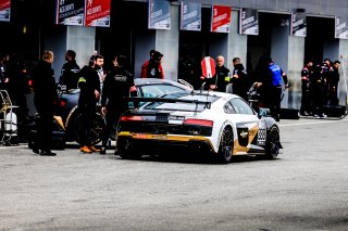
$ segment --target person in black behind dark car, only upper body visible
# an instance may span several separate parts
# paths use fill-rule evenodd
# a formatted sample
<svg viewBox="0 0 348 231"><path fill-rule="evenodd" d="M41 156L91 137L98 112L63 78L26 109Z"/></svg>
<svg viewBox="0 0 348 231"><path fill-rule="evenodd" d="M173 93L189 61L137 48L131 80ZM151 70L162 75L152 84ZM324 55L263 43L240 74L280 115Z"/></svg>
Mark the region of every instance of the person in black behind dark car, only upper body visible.
<svg viewBox="0 0 348 231"><path fill-rule="evenodd" d="M66 86L66 90L76 89L79 78L79 66L76 63L76 53L73 50L67 50L65 53L65 63L62 67L59 84Z"/></svg>

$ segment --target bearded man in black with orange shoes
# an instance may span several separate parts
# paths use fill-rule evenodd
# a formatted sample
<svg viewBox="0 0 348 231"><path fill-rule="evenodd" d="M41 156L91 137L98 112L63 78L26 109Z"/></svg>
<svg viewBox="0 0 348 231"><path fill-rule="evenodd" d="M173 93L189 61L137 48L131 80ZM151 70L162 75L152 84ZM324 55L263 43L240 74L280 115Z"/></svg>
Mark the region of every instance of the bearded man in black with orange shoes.
<svg viewBox="0 0 348 231"><path fill-rule="evenodd" d="M78 111L82 114L80 126L80 152L99 152L90 143L91 121L96 114L97 102L100 97L100 81L97 70L103 64L103 56L97 54L92 57L91 65L84 66L79 72L78 88L80 89L78 98Z"/></svg>

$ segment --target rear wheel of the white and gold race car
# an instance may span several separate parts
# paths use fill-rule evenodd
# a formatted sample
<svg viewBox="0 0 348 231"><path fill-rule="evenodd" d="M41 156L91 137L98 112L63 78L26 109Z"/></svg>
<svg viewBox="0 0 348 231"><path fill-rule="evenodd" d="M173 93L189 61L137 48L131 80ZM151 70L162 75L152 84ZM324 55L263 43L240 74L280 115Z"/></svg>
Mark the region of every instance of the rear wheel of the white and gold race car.
<svg viewBox="0 0 348 231"><path fill-rule="evenodd" d="M233 147L234 139L233 131L231 127L225 127L221 136L221 141L219 145L217 157L219 162L222 164L228 164L233 161Z"/></svg>

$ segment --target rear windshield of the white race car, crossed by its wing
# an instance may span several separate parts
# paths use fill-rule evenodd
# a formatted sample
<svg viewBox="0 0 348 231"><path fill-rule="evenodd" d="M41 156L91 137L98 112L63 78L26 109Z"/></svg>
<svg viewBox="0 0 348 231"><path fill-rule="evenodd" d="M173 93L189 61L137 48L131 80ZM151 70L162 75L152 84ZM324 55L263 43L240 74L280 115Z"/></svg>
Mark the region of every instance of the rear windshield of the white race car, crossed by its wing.
<svg viewBox="0 0 348 231"><path fill-rule="evenodd" d="M207 103L213 103L216 100L219 100L217 97L213 95L191 95L191 94L167 94L164 95L163 98L167 99L181 99L181 100L190 100L190 101L201 101L201 102L207 102ZM169 110L169 111L197 111L201 112L207 108L206 103L186 103L186 102L171 102L171 103L163 103L163 102L152 102L149 104L146 104L145 110Z"/></svg>

